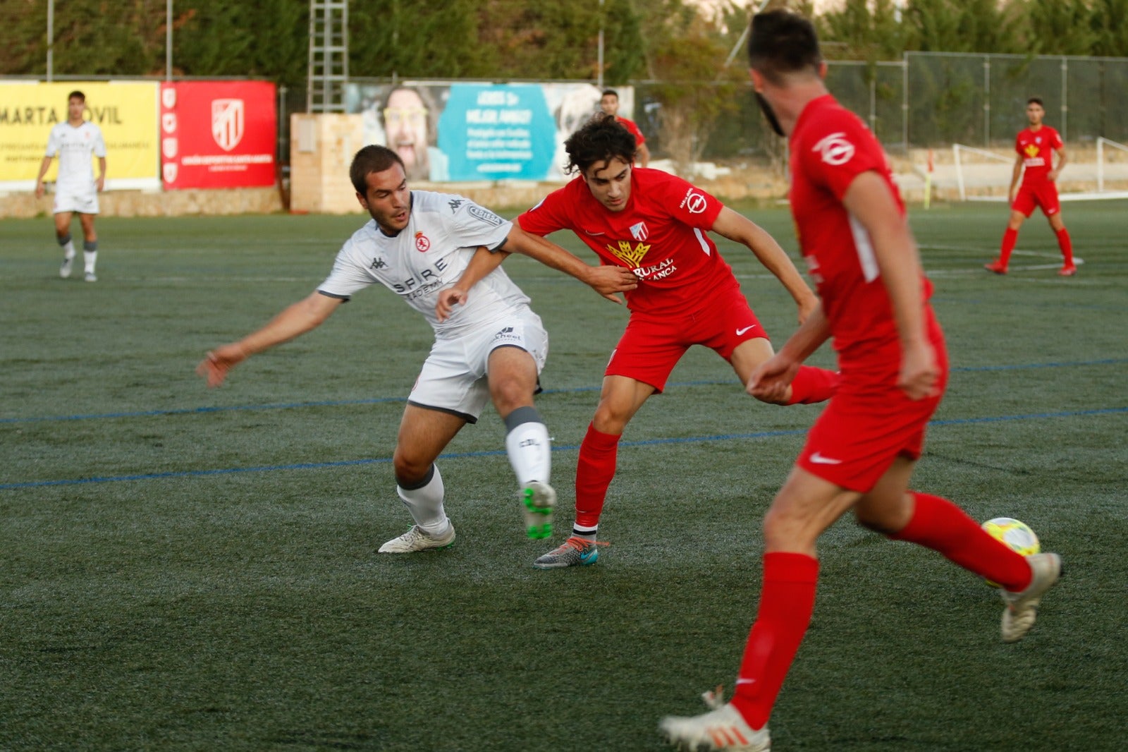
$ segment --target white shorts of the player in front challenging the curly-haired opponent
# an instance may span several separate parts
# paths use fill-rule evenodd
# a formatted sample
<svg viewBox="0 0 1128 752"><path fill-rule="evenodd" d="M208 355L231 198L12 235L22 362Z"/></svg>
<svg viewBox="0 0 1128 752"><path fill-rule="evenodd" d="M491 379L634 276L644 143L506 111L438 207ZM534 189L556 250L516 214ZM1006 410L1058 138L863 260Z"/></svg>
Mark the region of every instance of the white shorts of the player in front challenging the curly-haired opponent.
<svg viewBox="0 0 1128 752"><path fill-rule="evenodd" d="M548 359L548 333L540 316L523 308L465 336L435 340L407 402L477 422L490 402L490 353L504 347L531 355L539 374Z"/></svg>

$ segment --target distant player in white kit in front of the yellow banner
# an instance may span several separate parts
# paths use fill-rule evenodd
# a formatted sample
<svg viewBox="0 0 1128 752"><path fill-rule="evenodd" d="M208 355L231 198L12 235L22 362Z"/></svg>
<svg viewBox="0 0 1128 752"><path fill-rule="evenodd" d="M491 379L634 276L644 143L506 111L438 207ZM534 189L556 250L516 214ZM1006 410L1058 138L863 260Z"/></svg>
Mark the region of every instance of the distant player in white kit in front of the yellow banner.
<svg viewBox="0 0 1128 752"><path fill-rule="evenodd" d="M35 198L43 198L43 176L51 167L51 160L59 157L59 176L55 178L55 238L63 247L63 263L60 277L70 277L74 261L74 242L71 239L71 219L78 213L82 225L82 261L86 264L86 281L97 281L94 265L98 261L98 233L94 229L94 217L98 213L98 193L106 187L106 141L102 129L82 119L86 95L71 91L67 97L67 122L51 129L47 138L47 154L39 166L35 180ZM94 176L90 156L98 158L98 177Z"/></svg>

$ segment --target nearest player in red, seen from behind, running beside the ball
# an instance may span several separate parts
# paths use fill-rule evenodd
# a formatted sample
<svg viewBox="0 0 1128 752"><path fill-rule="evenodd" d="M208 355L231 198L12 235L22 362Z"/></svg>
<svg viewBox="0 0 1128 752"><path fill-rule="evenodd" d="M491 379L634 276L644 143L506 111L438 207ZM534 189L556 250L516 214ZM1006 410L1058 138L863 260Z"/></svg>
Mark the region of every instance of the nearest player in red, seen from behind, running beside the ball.
<svg viewBox="0 0 1128 752"><path fill-rule="evenodd" d="M767 720L814 606L816 541L839 516L934 549L1002 584L1004 641L1033 626L1060 572L1055 553L1023 558L946 499L908 490L925 426L948 381L944 338L928 305L905 206L880 145L823 85L811 23L788 11L754 17L752 84L790 137L791 208L820 307L764 364L749 391L770 399L834 338L837 391L764 518L764 580L735 694L713 710L666 718L671 742L697 750L769 749Z"/></svg>

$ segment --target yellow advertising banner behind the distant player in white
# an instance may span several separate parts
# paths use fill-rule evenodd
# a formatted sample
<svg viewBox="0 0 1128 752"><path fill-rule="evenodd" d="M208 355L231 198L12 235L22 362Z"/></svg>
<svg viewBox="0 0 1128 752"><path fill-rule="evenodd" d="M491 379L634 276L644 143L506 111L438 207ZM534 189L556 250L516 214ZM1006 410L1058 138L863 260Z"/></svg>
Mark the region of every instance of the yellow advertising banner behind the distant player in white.
<svg viewBox="0 0 1128 752"><path fill-rule="evenodd" d="M149 81L0 82L0 185L35 185L47 135L67 121L74 90L86 95L86 120L106 141L106 189L159 187L159 84ZM58 161L45 180L54 180Z"/></svg>

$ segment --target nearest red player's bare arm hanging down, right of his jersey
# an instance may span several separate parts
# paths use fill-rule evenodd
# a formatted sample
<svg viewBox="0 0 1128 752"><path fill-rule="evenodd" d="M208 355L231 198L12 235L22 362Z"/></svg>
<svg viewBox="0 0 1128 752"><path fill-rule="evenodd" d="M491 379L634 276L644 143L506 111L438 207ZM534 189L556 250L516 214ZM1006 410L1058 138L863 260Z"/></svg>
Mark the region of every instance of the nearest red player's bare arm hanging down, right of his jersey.
<svg viewBox="0 0 1128 752"><path fill-rule="evenodd" d="M870 170L846 189L843 204L865 228L889 292L901 342L898 386L913 400L936 393L940 369L924 324L920 280L924 272L908 219L901 213L884 178Z"/></svg>

